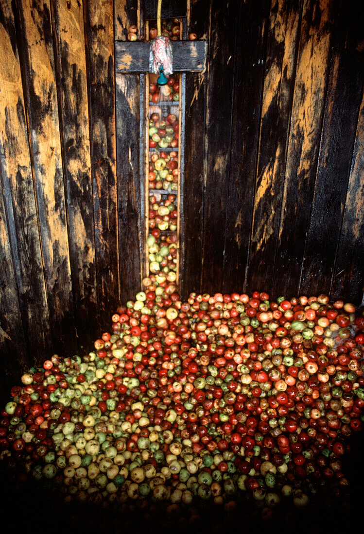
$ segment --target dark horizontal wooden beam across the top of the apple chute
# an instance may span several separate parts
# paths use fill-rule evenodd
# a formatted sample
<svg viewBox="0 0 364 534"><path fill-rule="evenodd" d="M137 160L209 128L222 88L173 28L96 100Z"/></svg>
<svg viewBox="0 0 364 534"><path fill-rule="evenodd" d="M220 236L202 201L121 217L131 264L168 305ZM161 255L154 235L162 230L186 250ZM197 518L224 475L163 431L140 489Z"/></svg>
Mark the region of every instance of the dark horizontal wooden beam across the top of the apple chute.
<svg viewBox="0 0 364 534"><path fill-rule="evenodd" d="M115 41L116 72L149 72L147 41ZM172 41L173 72L202 72L206 64L206 41Z"/></svg>

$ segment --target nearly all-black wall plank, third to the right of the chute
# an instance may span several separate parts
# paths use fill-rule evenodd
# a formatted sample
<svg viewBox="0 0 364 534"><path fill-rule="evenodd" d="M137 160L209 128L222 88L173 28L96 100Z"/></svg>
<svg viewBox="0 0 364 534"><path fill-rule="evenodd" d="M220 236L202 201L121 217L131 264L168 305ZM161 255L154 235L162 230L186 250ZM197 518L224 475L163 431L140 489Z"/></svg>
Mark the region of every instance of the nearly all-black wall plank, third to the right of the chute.
<svg viewBox="0 0 364 534"><path fill-rule="evenodd" d="M231 159L222 289L245 288L270 2L241 3L231 107Z"/></svg>

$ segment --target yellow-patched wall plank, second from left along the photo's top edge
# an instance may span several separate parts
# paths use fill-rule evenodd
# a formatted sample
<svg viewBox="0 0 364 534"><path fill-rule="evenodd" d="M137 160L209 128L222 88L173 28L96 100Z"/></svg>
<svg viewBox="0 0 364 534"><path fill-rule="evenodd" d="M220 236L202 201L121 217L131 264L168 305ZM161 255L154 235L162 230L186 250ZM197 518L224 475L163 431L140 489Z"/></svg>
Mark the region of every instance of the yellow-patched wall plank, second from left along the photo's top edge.
<svg viewBox="0 0 364 534"><path fill-rule="evenodd" d="M64 354L76 336L50 6L20 0L18 12L53 350Z"/></svg>

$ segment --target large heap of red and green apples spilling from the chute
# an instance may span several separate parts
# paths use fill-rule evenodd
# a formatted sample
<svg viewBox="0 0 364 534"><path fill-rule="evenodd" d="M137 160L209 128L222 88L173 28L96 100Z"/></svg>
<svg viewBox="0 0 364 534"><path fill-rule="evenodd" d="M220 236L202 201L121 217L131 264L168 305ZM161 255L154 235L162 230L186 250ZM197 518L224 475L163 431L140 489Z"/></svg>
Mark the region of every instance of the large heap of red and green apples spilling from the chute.
<svg viewBox="0 0 364 534"><path fill-rule="evenodd" d="M243 492L267 515L328 488L341 498L347 438L362 428L364 317L326 295L182 302L175 246L152 232L145 291L95 350L52 356L12 388L0 459L66 502L223 504Z"/></svg>

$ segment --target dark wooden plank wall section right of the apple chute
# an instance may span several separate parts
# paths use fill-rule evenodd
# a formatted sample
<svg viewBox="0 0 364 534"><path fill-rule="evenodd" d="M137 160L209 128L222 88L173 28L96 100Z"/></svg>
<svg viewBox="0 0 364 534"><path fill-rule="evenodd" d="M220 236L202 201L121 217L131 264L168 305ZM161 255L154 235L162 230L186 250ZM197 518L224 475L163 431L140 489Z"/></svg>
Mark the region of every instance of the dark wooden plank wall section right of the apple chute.
<svg viewBox="0 0 364 534"><path fill-rule="evenodd" d="M194 0L182 292L360 304L364 17L342 0Z"/></svg>

